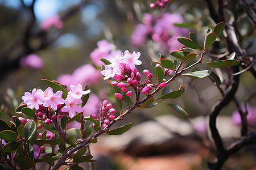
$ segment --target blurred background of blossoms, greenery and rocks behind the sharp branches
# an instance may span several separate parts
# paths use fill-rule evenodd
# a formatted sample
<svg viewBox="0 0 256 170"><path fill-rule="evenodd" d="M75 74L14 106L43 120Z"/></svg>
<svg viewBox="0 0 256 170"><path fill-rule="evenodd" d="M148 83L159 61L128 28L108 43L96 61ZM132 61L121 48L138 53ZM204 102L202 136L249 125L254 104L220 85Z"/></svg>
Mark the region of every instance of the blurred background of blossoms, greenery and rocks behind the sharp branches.
<svg viewBox="0 0 256 170"><path fill-rule="evenodd" d="M95 60L99 56L109 54L110 49L141 52L143 64L138 69L150 70L152 59L157 61L159 53L172 58L170 51L181 48L177 36L188 37L193 31L203 43L207 29L216 25L205 1L170 1L160 9L151 8L150 3L155 2L0 0L1 118L10 120L16 114L14 109L25 91L44 90L43 78L63 84L88 84L92 94L86 114L96 113L103 100L115 102L111 86L100 75ZM237 2L225 4L230 9L225 11L227 20L240 19L237 24L243 48L255 53L255 25L244 16L245 8ZM167 35L158 36L158 31L165 29ZM222 43L217 40L205 61L220 54L228 56ZM200 65L196 69L209 68ZM223 70L214 71L225 88L229 76ZM103 135L98 144L91 146L96 169L207 169L207 162L214 159L208 116L221 94L209 78L179 77L170 84L171 89L178 89L180 83L186 86L184 95L170 102L183 107L189 117L180 116L165 104L135 110L116 124L134 122L131 130L115 137ZM246 103L252 115L256 114L255 92L253 75L243 73L236 100L241 105ZM230 103L217 119L226 145L240 137L241 120L236 119L236 110L236 105ZM256 116L251 117L249 129L253 131ZM223 169L253 169L255 158L255 147L246 147Z"/></svg>

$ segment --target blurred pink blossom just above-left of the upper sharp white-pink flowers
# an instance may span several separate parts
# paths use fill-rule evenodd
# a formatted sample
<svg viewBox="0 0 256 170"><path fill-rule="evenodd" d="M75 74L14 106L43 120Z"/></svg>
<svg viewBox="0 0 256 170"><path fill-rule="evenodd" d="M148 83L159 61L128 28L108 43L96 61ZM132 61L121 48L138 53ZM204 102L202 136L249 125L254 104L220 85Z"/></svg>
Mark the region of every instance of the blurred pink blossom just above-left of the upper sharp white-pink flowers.
<svg viewBox="0 0 256 170"><path fill-rule="evenodd" d="M90 58L95 65L101 66L102 61L100 58L107 58L110 51L115 49L115 45L106 40L101 40L97 42L97 46L98 48L94 49L93 52L90 53Z"/></svg>

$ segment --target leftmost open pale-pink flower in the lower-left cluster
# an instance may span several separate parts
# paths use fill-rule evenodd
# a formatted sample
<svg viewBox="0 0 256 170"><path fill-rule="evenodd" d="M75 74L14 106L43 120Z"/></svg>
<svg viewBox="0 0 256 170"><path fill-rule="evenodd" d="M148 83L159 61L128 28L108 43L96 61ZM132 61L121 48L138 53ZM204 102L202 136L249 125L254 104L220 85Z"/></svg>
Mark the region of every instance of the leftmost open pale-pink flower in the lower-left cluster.
<svg viewBox="0 0 256 170"><path fill-rule="evenodd" d="M43 104L43 100L41 99L42 95L42 90L36 90L36 88L34 88L31 94L30 92L25 92L24 96L22 96L22 100L24 100L24 103L27 104L28 108L35 108L38 110L39 104Z"/></svg>

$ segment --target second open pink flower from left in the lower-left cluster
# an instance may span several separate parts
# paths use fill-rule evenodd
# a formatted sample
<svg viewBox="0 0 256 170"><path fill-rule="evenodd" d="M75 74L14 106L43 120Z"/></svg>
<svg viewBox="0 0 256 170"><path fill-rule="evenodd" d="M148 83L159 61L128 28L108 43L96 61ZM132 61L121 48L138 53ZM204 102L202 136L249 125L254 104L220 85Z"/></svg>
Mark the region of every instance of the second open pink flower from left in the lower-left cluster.
<svg viewBox="0 0 256 170"><path fill-rule="evenodd" d="M47 88L47 89L48 90L46 90L46 96L43 97L43 100L44 100L43 106L44 107L51 106L51 108L56 111L58 104L64 104L64 99L61 97L63 92L57 91L54 94L51 88Z"/></svg>

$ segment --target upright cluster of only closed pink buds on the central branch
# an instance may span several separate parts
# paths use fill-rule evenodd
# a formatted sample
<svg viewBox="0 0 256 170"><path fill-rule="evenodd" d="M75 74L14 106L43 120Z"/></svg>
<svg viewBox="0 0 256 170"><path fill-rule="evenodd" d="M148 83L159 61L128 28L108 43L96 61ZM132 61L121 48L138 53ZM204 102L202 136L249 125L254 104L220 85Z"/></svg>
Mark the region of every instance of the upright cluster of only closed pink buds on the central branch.
<svg viewBox="0 0 256 170"><path fill-rule="evenodd" d="M100 113L98 113L98 116L100 117L100 123L102 127L106 128L109 122L115 118L114 116L115 109L112 108L112 104L108 103L108 101L106 100L104 100L102 104L103 106L102 108L99 109ZM96 114L92 114L92 116L94 119L97 118Z"/></svg>

